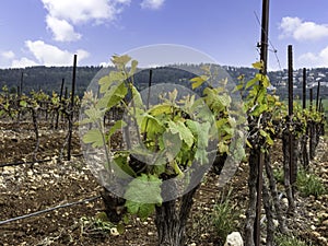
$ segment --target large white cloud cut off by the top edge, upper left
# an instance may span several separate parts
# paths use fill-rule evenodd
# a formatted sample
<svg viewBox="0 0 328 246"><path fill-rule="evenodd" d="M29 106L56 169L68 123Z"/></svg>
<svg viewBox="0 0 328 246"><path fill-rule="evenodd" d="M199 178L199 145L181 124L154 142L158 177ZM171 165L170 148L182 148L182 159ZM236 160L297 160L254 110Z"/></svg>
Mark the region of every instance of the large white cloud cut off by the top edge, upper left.
<svg viewBox="0 0 328 246"><path fill-rule="evenodd" d="M77 40L74 25L114 21L131 0L42 0L48 11L47 26L60 42Z"/></svg>

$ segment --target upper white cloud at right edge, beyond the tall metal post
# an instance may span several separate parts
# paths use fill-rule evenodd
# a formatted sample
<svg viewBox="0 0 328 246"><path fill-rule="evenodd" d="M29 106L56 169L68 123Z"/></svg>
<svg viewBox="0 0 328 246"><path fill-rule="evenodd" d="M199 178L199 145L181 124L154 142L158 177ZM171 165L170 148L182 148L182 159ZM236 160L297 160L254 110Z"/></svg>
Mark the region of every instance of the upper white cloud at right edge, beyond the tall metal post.
<svg viewBox="0 0 328 246"><path fill-rule="evenodd" d="M280 38L293 37L296 40L318 40L328 37L328 25L304 22L300 17L283 17L279 25Z"/></svg>

